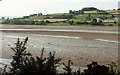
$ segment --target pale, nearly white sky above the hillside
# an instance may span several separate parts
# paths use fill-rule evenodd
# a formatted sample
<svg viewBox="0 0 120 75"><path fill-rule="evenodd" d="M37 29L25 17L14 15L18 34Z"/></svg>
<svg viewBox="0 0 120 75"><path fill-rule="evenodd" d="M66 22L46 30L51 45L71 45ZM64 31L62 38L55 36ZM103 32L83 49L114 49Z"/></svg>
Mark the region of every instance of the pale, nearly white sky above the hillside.
<svg viewBox="0 0 120 75"><path fill-rule="evenodd" d="M117 9L119 0L0 0L0 16L66 13L83 7L101 10Z"/></svg>

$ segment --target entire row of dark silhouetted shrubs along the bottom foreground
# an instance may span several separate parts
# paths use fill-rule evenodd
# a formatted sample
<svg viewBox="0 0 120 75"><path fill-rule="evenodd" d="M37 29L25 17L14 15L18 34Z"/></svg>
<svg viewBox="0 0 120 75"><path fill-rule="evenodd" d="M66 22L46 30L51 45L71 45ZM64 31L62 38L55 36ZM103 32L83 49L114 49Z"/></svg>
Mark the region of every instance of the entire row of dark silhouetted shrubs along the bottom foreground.
<svg viewBox="0 0 120 75"><path fill-rule="evenodd" d="M11 66L5 66L2 75L120 75L117 65L112 63L110 66L99 65L97 62L88 64L88 68L81 72L80 69L73 72L71 60L68 64L64 64L64 73L58 73L56 68L61 59L55 58L55 52L49 53L48 57L44 57L44 48L41 51L40 56L35 58L31 53L26 51L28 37L24 41L17 40L16 46L11 48L14 51L13 61Z"/></svg>

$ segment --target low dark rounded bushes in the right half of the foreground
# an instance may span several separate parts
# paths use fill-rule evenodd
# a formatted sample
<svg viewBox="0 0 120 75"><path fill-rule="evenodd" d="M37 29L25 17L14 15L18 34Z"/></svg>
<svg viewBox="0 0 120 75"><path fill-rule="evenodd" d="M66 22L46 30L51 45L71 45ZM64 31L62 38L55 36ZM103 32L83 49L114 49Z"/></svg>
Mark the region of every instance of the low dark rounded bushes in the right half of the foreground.
<svg viewBox="0 0 120 75"><path fill-rule="evenodd" d="M88 68L85 69L82 73L80 72L80 69L78 69L76 72L72 72L71 64L73 64L71 60L68 61L68 65L64 64L65 68L63 69L67 73L64 73L63 75L119 75L119 73L116 73L116 70L113 71L113 68L117 68L117 65L115 63L111 64L111 70L105 65L99 65L97 62L92 62L91 64L87 65Z"/></svg>

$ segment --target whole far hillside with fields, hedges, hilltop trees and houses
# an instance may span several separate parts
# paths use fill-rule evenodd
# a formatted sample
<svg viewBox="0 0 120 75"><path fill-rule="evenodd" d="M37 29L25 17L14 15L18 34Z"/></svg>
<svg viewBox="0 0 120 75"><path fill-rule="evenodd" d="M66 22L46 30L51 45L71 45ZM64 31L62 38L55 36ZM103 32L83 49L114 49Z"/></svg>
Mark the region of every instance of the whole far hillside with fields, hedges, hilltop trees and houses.
<svg viewBox="0 0 120 75"><path fill-rule="evenodd" d="M31 14L21 18L5 19L2 18L3 24L15 25L120 25L120 10L99 10L97 8L83 8L82 10L72 11L69 13L47 14L42 13ZM54 19L54 21L53 21ZM56 20L55 20L56 19ZM94 22L93 22L94 21Z"/></svg>

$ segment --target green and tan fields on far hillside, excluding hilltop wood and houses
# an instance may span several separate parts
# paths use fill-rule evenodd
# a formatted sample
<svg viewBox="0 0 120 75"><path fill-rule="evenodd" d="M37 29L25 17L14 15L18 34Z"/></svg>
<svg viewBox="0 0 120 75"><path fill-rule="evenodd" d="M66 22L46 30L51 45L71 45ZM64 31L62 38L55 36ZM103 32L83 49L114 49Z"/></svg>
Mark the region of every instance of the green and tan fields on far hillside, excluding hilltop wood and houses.
<svg viewBox="0 0 120 75"><path fill-rule="evenodd" d="M79 13L79 14L78 14ZM80 11L72 11L72 13L54 13L47 15L30 15L24 16L23 18L18 19L3 19L2 22L10 23L10 24L47 24L47 25L79 25L79 24L91 24L93 19L111 19L119 18L119 16L115 13L118 13L117 10L97 10L97 11L84 11L84 13L80 13ZM21 22L24 23L21 23ZM34 21L34 22L33 22ZM44 21L44 22L40 22ZM47 22L46 22L47 21ZM45 23L46 22L46 23ZM96 23L99 24L99 23ZM102 23L104 25L119 25L119 23Z"/></svg>

